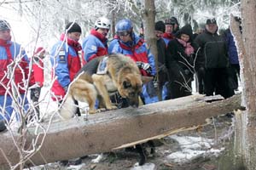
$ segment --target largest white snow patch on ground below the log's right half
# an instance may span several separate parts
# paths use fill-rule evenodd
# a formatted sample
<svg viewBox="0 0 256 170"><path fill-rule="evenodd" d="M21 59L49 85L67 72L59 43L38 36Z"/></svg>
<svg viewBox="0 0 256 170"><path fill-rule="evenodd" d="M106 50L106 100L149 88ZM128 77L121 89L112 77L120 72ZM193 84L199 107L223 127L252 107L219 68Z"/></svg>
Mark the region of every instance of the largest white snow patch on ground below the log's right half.
<svg viewBox="0 0 256 170"><path fill-rule="evenodd" d="M212 139L177 135L169 136L169 138L177 140L181 150L172 152L167 159L179 163L192 161L199 156L218 156L224 150L224 148L213 149L214 141Z"/></svg>

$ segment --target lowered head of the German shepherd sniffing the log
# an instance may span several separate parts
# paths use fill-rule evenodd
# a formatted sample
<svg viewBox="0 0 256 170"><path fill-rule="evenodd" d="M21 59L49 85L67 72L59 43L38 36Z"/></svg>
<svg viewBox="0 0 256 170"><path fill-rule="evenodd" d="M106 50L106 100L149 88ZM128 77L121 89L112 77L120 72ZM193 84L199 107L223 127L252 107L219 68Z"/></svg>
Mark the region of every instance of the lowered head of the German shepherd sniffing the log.
<svg viewBox="0 0 256 170"><path fill-rule="evenodd" d="M128 99L129 105L132 107L138 107L139 105L139 94L142 93L143 82L141 75L136 71L121 72L119 79L119 94Z"/></svg>

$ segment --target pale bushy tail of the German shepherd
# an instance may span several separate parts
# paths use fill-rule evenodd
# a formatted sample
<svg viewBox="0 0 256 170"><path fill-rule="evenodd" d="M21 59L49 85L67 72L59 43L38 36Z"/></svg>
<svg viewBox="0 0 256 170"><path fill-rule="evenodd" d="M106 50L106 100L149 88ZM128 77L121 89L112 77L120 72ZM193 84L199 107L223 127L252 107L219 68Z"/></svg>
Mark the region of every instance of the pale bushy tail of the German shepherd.
<svg viewBox="0 0 256 170"><path fill-rule="evenodd" d="M65 120L71 119L75 112L77 111L78 107L75 105L75 102L71 95L67 95L67 99L65 99L64 103L61 106L61 110L59 114Z"/></svg>

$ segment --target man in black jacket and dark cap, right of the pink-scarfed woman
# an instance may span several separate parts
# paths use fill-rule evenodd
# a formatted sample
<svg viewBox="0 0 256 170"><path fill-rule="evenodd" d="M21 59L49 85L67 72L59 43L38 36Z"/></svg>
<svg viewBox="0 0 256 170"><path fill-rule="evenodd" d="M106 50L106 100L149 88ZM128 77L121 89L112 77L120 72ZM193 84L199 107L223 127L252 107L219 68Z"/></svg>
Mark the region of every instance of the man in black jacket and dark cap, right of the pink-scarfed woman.
<svg viewBox="0 0 256 170"><path fill-rule="evenodd" d="M204 71L204 90L207 96L221 94L229 98L234 90L229 86L229 57L227 45L217 33L218 26L215 19L208 19L206 31L195 38L200 47L196 59L197 70Z"/></svg>

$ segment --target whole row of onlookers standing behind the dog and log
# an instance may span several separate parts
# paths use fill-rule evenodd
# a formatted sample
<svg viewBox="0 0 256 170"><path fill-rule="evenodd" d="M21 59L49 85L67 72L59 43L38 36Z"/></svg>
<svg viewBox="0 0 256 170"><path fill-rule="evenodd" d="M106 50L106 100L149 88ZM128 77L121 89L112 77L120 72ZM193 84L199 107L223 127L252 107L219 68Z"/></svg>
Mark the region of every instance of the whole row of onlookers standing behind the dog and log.
<svg viewBox="0 0 256 170"><path fill-rule="evenodd" d="M125 54L136 62L142 76L152 77L152 81L143 85L143 92L140 95L144 105L191 95L191 82L195 77L197 91L200 94L221 94L224 98L229 98L238 88L237 74L239 75L240 68L234 37L229 29L224 35L218 35L218 24L215 19L207 19L204 29L196 33L193 33L190 25L179 26L175 17L157 21L154 27L157 61L144 40L143 31L137 35L131 20L123 19L116 23L112 40L108 39L110 27L111 22L108 18L98 18L81 45L81 26L76 22L70 22L65 26L60 40L49 52L52 56L51 77L54 80L51 87L52 99L61 104L69 84L80 68L91 59L106 54ZM46 50L42 47L37 48L32 59L29 59L25 50L20 48L20 44L11 41L10 32L9 23L0 20L0 131L6 128L5 123L9 122L14 109L14 85L20 92L20 99L26 98L26 86L35 87L31 88L31 96L33 103L37 103L40 89L44 84L42 59ZM82 52L82 56L79 56L79 52ZM19 62L14 66L15 59L19 59ZM28 66L30 62L33 63L32 74ZM10 83L11 66L15 67L15 83ZM26 79L28 81L25 83ZM160 93L157 93L157 90ZM120 107L125 107L125 99L121 100ZM35 112L39 116L38 105ZM79 110L77 115L80 115Z"/></svg>

